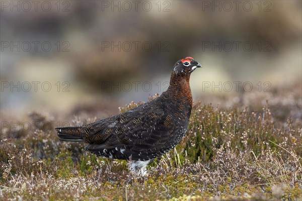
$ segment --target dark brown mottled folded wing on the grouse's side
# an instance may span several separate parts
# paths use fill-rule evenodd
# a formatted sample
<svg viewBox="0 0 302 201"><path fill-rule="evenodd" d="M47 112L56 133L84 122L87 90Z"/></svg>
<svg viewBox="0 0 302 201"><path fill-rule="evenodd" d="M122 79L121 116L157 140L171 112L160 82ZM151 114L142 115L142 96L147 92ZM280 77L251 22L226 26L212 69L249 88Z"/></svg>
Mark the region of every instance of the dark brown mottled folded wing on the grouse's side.
<svg viewBox="0 0 302 201"><path fill-rule="evenodd" d="M88 135L86 149L109 158L148 160L175 146L169 142L175 142L180 128L176 125L162 105L149 102L93 123L91 127L97 133Z"/></svg>

